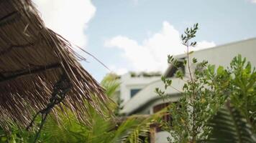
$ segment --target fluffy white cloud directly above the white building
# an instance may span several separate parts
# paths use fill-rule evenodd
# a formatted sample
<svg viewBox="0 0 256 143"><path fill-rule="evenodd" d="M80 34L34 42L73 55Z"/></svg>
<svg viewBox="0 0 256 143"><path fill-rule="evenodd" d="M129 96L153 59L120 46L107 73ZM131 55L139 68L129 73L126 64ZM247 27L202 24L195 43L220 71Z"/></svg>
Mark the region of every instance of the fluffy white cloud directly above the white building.
<svg viewBox="0 0 256 143"><path fill-rule="evenodd" d="M161 31L152 34L138 44L134 39L126 36L115 36L105 41L105 46L122 49L128 64L132 64L135 71L164 71L167 64L167 55L183 54L186 47L181 44L180 33L167 21L163 22ZM199 41L193 50L215 46L214 42Z"/></svg>

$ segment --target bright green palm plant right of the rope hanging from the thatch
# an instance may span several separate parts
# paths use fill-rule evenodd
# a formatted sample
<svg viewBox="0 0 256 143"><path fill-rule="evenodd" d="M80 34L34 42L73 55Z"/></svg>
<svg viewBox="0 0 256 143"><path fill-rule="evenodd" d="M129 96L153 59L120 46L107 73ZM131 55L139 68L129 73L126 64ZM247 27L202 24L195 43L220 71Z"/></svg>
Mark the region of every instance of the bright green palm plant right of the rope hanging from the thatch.
<svg viewBox="0 0 256 143"><path fill-rule="evenodd" d="M116 89L119 88L119 83L116 82L114 74L106 76L101 85L105 87L109 97L112 97ZM116 106L110 107L112 110L118 108ZM106 117L104 119L93 108L90 111L91 127L86 127L86 125L77 122L74 117L69 121L66 120L63 126L58 126L56 120L52 120L53 122L48 122L45 125L42 132L42 139L44 139L41 139L42 142L147 142L150 124L163 115L163 112L158 112L146 117Z"/></svg>

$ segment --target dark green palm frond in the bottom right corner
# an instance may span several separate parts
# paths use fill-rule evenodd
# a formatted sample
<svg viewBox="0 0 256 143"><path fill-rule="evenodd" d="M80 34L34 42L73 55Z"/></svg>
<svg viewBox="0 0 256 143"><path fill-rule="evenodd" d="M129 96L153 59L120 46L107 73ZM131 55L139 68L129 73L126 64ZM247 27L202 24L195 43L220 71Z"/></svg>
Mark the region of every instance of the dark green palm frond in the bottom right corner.
<svg viewBox="0 0 256 143"><path fill-rule="evenodd" d="M247 120L229 102L224 105L216 116L211 120L210 127L213 127L209 139L206 142L212 143L242 143L256 142L252 134L252 127Z"/></svg>

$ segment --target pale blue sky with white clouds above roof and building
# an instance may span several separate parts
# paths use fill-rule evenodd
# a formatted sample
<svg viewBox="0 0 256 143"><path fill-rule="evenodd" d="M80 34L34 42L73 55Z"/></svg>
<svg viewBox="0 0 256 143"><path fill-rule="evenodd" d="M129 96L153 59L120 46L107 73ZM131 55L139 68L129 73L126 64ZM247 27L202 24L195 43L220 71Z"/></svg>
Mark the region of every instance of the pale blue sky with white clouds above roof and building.
<svg viewBox="0 0 256 143"><path fill-rule="evenodd" d="M183 54L180 34L199 24L198 47L256 37L256 0L34 0L45 25L81 46L111 71L165 71ZM98 81L109 69L83 51Z"/></svg>

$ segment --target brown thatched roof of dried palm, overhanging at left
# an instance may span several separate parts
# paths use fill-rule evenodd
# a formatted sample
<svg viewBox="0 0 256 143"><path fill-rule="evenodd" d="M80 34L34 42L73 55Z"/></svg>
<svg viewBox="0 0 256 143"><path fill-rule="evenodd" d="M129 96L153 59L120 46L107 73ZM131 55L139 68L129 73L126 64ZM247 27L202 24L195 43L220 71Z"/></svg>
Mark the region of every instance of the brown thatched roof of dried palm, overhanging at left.
<svg viewBox="0 0 256 143"><path fill-rule="evenodd" d="M0 124L27 126L45 108L63 74L73 87L60 106L83 121L84 102L99 112L106 108L104 90L78 63L80 58L68 41L45 27L32 1L0 1Z"/></svg>

